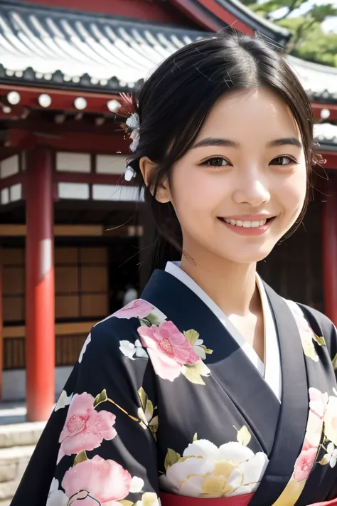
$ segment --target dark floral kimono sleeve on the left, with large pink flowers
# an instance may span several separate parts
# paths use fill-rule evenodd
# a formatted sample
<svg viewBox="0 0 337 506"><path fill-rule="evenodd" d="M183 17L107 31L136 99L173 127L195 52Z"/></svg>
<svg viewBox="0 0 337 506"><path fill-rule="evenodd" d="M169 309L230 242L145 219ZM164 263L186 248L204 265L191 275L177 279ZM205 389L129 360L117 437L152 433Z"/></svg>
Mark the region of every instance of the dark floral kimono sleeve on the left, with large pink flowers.
<svg viewBox="0 0 337 506"><path fill-rule="evenodd" d="M11 506L158 505L155 381L134 342L132 320L92 329Z"/></svg>

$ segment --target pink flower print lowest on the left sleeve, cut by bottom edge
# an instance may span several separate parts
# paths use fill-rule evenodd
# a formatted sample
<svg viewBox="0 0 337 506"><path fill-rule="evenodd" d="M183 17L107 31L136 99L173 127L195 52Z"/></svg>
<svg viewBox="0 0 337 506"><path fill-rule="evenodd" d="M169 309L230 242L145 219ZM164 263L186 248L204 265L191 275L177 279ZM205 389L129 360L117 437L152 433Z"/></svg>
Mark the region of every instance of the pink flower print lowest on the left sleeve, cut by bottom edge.
<svg viewBox="0 0 337 506"><path fill-rule="evenodd" d="M120 506L117 501L127 497L130 485L129 471L98 455L70 468L62 481L65 495L78 497L72 506Z"/></svg>

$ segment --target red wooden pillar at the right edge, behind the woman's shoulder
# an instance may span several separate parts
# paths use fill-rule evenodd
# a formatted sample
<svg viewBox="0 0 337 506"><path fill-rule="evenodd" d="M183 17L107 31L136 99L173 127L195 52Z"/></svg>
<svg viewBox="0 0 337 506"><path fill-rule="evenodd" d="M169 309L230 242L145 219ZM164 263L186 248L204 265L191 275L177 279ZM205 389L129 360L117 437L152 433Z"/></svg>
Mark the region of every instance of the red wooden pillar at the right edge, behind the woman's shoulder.
<svg viewBox="0 0 337 506"><path fill-rule="evenodd" d="M322 203L324 312L337 325L337 179L329 176Z"/></svg>

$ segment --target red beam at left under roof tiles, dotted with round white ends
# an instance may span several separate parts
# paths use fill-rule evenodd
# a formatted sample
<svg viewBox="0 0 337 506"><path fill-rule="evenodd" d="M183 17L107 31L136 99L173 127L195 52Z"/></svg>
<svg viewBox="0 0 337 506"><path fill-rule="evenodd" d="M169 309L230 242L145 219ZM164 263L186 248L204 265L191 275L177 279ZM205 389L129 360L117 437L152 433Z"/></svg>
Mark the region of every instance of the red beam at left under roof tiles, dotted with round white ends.
<svg viewBox="0 0 337 506"><path fill-rule="evenodd" d="M6 100L6 95L10 91L17 91L21 95L20 106L33 107L40 110L69 110L73 112L97 112L105 115L112 115L107 108L109 100L120 100L119 95L112 93L90 93L85 90L56 90L54 88L30 88L28 86L0 84L0 97ZM50 107L41 107L38 104L38 96L47 93L52 102ZM78 111L74 105L77 97L83 97L87 100L87 107L83 111ZM16 106L17 107L17 106ZM15 108L14 108L15 111ZM4 115L9 117L9 115Z"/></svg>

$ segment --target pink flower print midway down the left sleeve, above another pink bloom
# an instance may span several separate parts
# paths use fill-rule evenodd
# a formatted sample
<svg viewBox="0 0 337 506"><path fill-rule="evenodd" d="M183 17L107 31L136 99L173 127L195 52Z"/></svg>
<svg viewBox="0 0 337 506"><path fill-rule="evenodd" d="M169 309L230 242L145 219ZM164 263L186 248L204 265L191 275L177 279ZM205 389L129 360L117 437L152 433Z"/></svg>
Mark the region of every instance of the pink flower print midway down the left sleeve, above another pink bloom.
<svg viewBox="0 0 337 506"><path fill-rule="evenodd" d="M60 433L58 463L63 455L80 453L82 450L98 448L103 439L107 441L117 436L112 427L116 416L109 411L96 411L92 395L75 395L69 406L65 426Z"/></svg>

